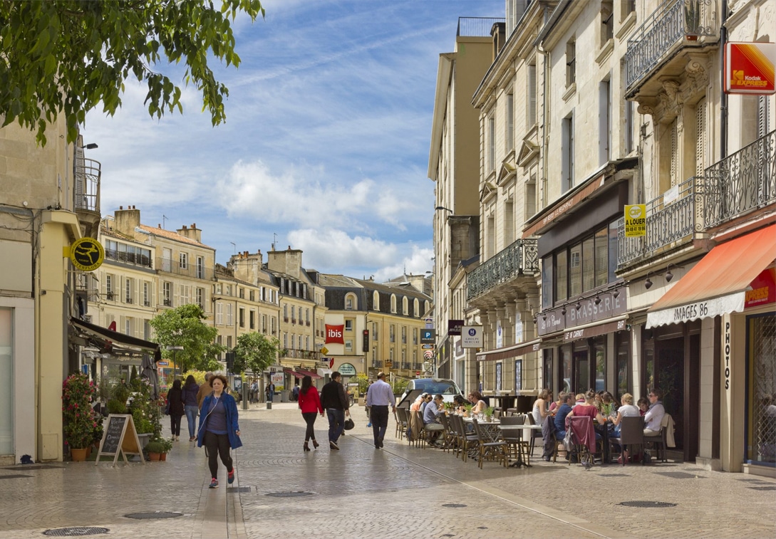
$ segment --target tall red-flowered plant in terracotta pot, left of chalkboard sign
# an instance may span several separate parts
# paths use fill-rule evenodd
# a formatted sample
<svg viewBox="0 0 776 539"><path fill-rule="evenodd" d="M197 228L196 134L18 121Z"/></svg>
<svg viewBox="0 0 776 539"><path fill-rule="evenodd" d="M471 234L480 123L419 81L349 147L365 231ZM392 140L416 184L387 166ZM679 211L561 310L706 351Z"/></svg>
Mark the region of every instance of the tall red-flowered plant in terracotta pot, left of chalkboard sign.
<svg viewBox="0 0 776 539"><path fill-rule="evenodd" d="M74 461L86 460L87 449L94 440L94 393L94 382L81 372L68 376L62 382L62 430Z"/></svg>

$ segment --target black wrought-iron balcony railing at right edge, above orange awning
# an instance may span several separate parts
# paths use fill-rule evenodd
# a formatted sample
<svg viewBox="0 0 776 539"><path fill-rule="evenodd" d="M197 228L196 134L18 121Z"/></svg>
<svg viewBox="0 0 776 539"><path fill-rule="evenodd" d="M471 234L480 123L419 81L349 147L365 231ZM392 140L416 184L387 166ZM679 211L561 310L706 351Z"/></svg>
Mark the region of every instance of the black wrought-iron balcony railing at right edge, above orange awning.
<svg viewBox="0 0 776 539"><path fill-rule="evenodd" d="M776 131L705 171L706 226L718 226L776 202Z"/></svg>

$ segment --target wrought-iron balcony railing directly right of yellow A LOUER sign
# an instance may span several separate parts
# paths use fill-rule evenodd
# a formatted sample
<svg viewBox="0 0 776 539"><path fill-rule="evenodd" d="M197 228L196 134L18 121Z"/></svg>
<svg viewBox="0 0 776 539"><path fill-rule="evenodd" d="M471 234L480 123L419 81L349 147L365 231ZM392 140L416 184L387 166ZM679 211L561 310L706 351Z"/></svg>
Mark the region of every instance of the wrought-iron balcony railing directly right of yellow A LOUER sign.
<svg viewBox="0 0 776 539"><path fill-rule="evenodd" d="M693 176L646 204L646 236L625 237L625 219L617 222L618 270L652 257L658 250L690 241L705 229L703 178Z"/></svg>

